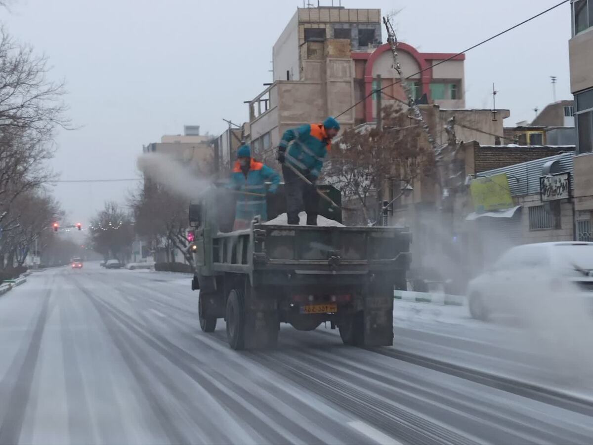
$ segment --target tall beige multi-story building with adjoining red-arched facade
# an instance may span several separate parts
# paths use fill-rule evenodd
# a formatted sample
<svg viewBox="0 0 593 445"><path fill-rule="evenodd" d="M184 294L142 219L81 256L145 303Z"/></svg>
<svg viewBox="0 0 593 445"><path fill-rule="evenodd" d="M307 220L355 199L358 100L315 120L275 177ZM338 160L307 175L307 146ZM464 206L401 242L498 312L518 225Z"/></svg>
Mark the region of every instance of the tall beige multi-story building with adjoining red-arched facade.
<svg viewBox="0 0 593 445"><path fill-rule="evenodd" d="M403 42L398 54L414 98L465 107L463 55L421 53ZM391 65L379 9L298 8L273 48L274 82L249 104L255 152L278 145L286 129L327 116L339 116L344 127L374 120L374 89L384 87L384 105L405 97Z"/></svg>

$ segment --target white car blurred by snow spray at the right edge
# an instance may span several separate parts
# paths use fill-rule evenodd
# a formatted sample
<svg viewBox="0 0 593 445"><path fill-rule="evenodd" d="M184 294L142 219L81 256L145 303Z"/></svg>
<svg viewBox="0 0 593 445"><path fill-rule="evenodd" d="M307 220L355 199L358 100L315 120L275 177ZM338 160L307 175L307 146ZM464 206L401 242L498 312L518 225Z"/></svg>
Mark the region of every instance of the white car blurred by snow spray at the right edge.
<svg viewBox="0 0 593 445"><path fill-rule="evenodd" d="M566 298L593 308L593 242L515 246L470 281L467 296L471 316L479 320L551 311L558 303L565 305Z"/></svg>

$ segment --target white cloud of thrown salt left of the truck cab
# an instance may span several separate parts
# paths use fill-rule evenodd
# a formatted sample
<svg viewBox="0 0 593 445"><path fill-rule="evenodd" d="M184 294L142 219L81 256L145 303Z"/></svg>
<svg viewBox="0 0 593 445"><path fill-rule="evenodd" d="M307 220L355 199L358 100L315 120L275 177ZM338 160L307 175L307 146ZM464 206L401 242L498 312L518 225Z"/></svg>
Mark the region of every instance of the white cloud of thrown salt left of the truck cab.
<svg viewBox="0 0 593 445"><path fill-rule="evenodd" d="M196 177L180 162L161 153L144 153L138 156L136 164L151 180L190 200L195 200L200 193L212 187L210 180Z"/></svg>

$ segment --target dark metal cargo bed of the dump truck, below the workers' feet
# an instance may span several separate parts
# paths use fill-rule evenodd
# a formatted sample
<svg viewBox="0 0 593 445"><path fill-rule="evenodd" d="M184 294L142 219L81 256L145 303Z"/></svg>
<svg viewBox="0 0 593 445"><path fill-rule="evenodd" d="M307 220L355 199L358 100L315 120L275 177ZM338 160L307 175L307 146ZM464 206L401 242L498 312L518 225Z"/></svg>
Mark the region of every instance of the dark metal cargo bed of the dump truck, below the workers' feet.
<svg viewBox="0 0 593 445"><path fill-rule="evenodd" d="M219 272L297 270L361 273L407 269L410 233L404 228L256 224L212 238Z"/></svg>

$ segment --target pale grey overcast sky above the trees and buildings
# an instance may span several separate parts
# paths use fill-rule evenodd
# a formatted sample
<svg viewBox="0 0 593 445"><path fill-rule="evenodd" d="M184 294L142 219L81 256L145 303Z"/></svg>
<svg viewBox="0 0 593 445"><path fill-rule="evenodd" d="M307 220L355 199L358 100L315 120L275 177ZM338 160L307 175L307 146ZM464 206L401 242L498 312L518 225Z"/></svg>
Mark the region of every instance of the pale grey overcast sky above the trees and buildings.
<svg viewBox="0 0 593 445"><path fill-rule="evenodd" d="M338 0L335 0L337 5ZM401 9L398 37L422 52L458 52L559 0L343 0L346 8ZM317 2L313 2L317 3ZM321 5L331 1L322 0ZM248 117L243 101L272 79L272 45L302 0L12 0L0 21L44 53L65 79L69 116L52 162L63 180L135 177L142 145L184 124L221 133ZM468 108L509 108L512 125L535 107L569 99L570 6L467 54ZM385 41L385 39L384 39ZM103 201L123 201L130 183L59 184L71 220L85 224Z"/></svg>

